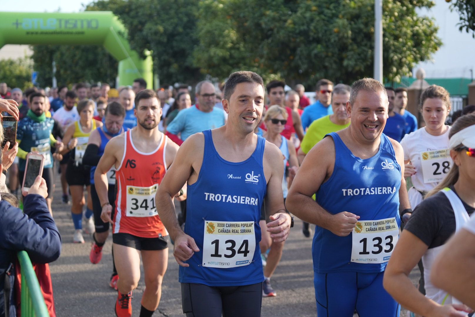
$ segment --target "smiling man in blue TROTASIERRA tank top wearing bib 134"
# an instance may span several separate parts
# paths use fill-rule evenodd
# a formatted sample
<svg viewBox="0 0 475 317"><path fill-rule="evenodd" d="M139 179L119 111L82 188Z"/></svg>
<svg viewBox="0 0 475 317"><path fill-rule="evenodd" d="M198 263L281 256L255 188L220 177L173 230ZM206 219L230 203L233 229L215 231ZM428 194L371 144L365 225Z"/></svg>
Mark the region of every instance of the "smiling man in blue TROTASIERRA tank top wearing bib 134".
<svg viewBox="0 0 475 317"><path fill-rule="evenodd" d="M282 152L253 133L264 107L262 78L231 74L224 98L227 123L181 145L156 195L158 213L175 241L187 317L260 316L263 199L274 242L285 241L292 223L282 195ZM183 232L172 197L187 181Z"/></svg>

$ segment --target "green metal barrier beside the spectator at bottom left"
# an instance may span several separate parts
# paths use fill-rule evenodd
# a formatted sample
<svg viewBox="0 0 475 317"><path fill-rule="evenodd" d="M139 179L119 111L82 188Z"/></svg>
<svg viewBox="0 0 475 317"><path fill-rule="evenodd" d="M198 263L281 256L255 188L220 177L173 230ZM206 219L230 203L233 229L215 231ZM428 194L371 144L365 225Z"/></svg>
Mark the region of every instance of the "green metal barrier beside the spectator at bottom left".
<svg viewBox="0 0 475 317"><path fill-rule="evenodd" d="M45 298L39 288L38 278L28 253L20 251L17 256L21 267L21 316L49 317Z"/></svg>

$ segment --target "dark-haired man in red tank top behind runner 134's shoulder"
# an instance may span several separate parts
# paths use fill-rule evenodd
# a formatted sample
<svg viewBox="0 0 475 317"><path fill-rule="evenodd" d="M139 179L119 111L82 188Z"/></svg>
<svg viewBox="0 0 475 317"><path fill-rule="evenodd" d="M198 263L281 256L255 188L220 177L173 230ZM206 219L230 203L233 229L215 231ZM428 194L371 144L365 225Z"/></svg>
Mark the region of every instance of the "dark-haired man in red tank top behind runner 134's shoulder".
<svg viewBox="0 0 475 317"><path fill-rule="evenodd" d="M287 122L284 126L282 134L287 140L292 138L292 133L296 133L299 140L304 138L304 130L302 129L302 121L300 115L296 110L290 109L285 106L285 83L279 80L273 80L267 84L267 98L269 98L269 106L275 104L284 108L287 111Z"/></svg>

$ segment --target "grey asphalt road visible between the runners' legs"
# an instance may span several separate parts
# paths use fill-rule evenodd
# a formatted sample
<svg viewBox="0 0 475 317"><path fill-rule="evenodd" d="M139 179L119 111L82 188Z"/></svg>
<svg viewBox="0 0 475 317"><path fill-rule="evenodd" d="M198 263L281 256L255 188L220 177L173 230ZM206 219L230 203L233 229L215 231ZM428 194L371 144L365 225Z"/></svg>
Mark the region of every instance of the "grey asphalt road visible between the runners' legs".
<svg viewBox="0 0 475 317"><path fill-rule="evenodd" d="M58 317L110 317L114 315L116 291L109 287L112 273L111 237L104 245L104 256L99 264L91 264L89 252L91 240L85 234L86 243L72 243L74 227L70 205L61 202L61 186L57 177L57 190L53 201L53 215L63 241L60 258L50 264L54 298ZM263 298L263 317L316 316L312 239L301 232L302 222L295 220L295 228L285 243L284 254L272 277L277 292L273 298ZM411 279L417 283L419 273L413 270ZM139 286L133 292L133 316L138 316L144 289L143 270ZM161 301L153 316L184 316L181 311L178 264L169 248L168 270L165 274ZM401 313L406 316L406 312Z"/></svg>

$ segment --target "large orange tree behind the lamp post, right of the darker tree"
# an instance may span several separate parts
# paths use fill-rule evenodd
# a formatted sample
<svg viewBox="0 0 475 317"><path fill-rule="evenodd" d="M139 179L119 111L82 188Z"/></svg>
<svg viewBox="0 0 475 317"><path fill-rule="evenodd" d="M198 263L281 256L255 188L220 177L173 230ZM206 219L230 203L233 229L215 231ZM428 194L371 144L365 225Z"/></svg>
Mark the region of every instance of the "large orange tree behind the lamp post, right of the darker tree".
<svg viewBox="0 0 475 317"><path fill-rule="evenodd" d="M399 81L442 44L417 8L431 0L383 1L383 75ZM374 0L203 0L195 65L224 78L255 70L289 83L351 84L373 75Z"/></svg>

